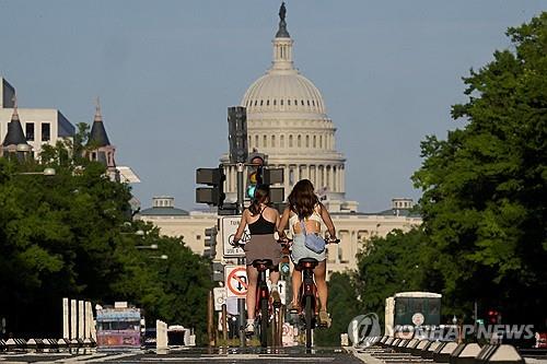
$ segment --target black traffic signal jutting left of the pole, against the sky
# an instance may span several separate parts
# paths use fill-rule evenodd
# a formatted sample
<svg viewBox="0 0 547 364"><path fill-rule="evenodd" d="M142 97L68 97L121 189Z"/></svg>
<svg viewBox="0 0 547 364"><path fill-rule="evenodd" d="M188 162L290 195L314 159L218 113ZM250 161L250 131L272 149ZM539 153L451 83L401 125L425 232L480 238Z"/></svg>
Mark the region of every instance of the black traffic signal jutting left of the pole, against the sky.
<svg viewBox="0 0 547 364"><path fill-rule="evenodd" d="M205 184L211 187L196 188L196 202L209 203L222 208L224 203L224 180L226 175L222 166L218 168L197 168L196 184Z"/></svg>

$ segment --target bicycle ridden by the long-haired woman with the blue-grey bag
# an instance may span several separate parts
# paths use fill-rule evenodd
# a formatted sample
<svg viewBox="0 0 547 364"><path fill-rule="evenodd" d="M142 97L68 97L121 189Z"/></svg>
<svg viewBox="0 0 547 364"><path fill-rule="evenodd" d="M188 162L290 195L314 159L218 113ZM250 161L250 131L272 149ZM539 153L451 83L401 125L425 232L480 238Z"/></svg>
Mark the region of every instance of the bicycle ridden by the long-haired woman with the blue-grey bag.
<svg viewBox="0 0 547 364"><path fill-rule="evenodd" d="M283 242L291 243L292 239ZM326 244L338 244L340 239L325 238ZM316 327L326 327L325 322L317 325L318 294L313 275L313 270L319 262L314 258L302 258L295 265L295 269L302 271L302 285L300 286L300 310L299 317L304 321L306 349L312 348L312 330Z"/></svg>

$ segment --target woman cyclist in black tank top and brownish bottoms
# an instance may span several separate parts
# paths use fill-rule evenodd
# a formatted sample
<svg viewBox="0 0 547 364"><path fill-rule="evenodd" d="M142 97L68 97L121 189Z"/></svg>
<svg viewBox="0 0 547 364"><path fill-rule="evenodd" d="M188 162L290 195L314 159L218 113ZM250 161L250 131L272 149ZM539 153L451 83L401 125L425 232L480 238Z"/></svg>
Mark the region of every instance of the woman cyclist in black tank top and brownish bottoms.
<svg viewBox="0 0 547 364"><path fill-rule="evenodd" d="M253 261L257 259L269 259L272 262L270 268L271 297L274 302L280 302L277 282L279 280L279 261L281 259L281 247L274 237L276 226L279 223L279 212L270 207L270 189L268 186L258 185L255 190L253 202L243 211L240 226L234 236L234 242L238 242L248 225L251 240L245 244L245 257L247 265L247 325L245 332L253 333L255 322L256 284L258 270L253 267Z"/></svg>

